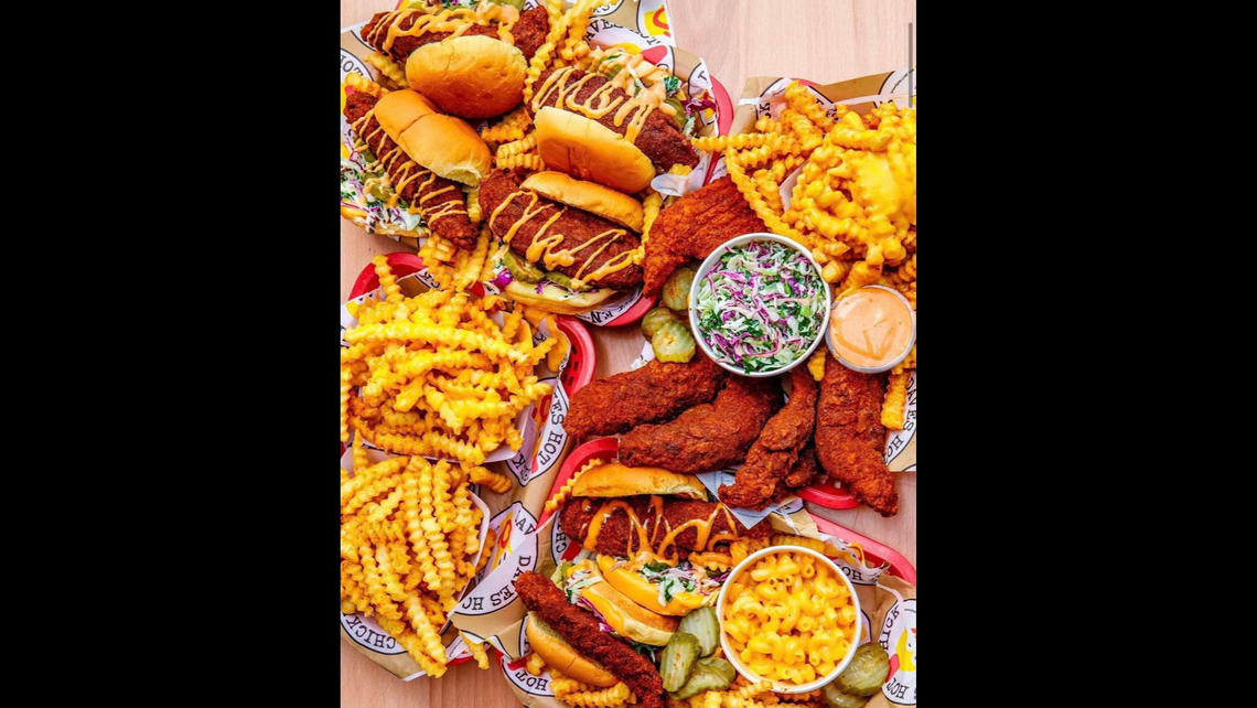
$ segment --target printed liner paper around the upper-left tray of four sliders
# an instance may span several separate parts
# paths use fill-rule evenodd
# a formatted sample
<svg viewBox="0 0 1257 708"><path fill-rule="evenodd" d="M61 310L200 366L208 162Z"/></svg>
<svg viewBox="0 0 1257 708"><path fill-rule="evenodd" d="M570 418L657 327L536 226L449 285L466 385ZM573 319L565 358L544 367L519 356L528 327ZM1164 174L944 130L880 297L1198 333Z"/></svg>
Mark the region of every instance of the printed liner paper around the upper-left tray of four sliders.
<svg viewBox="0 0 1257 708"><path fill-rule="evenodd" d="M400 9L407 4L409 0L400 0L395 8ZM525 9L532 9L537 5L537 0L525 0L524 3ZM568 5L571 5L571 3L568 3ZM383 8L381 8L381 10L383 10ZM361 36L361 29L367 21L368 20L363 20L341 30L342 106L346 96L344 77L347 74L357 72L362 75L371 77L373 80L380 80L381 72L375 69L366 60L367 55L375 52L375 49L367 45ZM705 92L706 97L711 98L716 104L715 111L709 109L700 114L703 127L699 128L696 133L700 136L713 136L724 135L724 132L728 131L728 127L733 122L733 103L729 101L729 94L724 87L710 75L706 62L683 49L676 49L671 26L667 23L667 4L664 0L620 0L598 5L590 21L590 29L586 31L586 40L591 47L621 45L630 52L642 54L646 60L654 64L671 68L678 78L698 89L694 93L703 96ZM356 163L358 169L366 167L361 158L354 160L353 157L353 143L349 137L349 126L343 114L341 116L341 156L342 160L349 160ZM711 160L711 155L701 153L699 165L693 172L693 179L685 181L688 186L684 191L693 191L705 185L711 179L713 165L714 161ZM666 175L660 175L656 180L665 176ZM363 204L367 202L367 196L362 194L361 189L353 189L352 185L346 186L344 189L348 189L354 195L354 201L361 201ZM669 190L662 191L666 194L674 194ZM344 205L343 199L342 205ZM422 229L417 236L398 236L388 233L382 224L377 223L378 219L372 220L371 216L366 215L368 211L371 214L377 214L380 213L380 209L363 210L349 205L349 211L362 214L357 216L357 219L358 221L367 221L366 224L360 225L362 225L368 233L381 233L415 249L417 249L419 244L426 239L426 228ZM397 219L405 219L405 216L397 216ZM497 277L502 270L502 268L495 269L493 272L493 277ZM497 292L497 289L490 284L485 283L485 285L489 288L489 292ZM641 288L637 288L631 293L613 298L598 309L585 314L577 314L576 317L595 327L622 327L641 319L641 317L649 312L657 301L657 297L642 297Z"/></svg>

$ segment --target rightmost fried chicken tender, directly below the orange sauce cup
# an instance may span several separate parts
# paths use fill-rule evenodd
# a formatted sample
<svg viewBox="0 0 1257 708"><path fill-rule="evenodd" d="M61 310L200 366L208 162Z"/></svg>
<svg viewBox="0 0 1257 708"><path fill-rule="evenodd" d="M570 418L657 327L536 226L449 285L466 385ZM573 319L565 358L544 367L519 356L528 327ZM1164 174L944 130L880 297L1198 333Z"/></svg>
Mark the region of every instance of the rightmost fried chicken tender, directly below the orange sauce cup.
<svg viewBox="0 0 1257 708"><path fill-rule="evenodd" d="M886 469L881 401L885 373L860 373L826 353L816 411L816 451L830 477L884 517L899 511L894 474Z"/></svg>

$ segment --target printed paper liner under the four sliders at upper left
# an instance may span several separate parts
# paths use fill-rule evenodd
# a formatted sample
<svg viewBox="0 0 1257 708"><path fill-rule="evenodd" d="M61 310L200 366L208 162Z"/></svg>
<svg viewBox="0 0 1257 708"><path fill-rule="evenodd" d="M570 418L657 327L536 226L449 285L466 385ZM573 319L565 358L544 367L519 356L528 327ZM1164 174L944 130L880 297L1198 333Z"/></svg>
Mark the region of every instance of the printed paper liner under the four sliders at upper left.
<svg viewBox="0 0 1257 708"><path fill-rule="evenodd" d="M409 0L402 0L396 6L402 8L409 4ZM461 0L460 4L474 5L471 0ZM524 8L532 9L538 4L537 0L527 0ZM571 3L564 3L567 8L571 8ZM387 8L381 6L381 10L385 9ZM706 62L700 57L676 48L667 18L667 3L665 0L610 0L595 8L585 38L590 47L622 47L630 53L641 54L646 60L656 65L671 69L676 78L681 79L685 84L688 96L691 98L706 97L714 103L715 94L711 92L711 75L708 72ZM365 77L371 77L372 80L385 83L381 79L381 72L367 62L367 55L372 54L375 49L362 39L361 30L366 24L367 20L363 20L341 30L341 204L344 210L354 215L352 220L368 233L383 234L417 249L419 244L427 238L426 228L420 229L417 238L400 236L393 233L398 229L420 228L417 216L405 214L405 209L400 207L392 210L385 209L373 197L363 194L361 180L346 177L347 174L352 175L354 171L360 175L368 175L368 172L366 172L366 160L353 151L349 123L343 114L346 99L344 77L356 72ZM699 121L700 124L696 126L695 135L716 135L716 112L714 109L701 111ZM488 126L486 121L475 127L479 130L484 126ZM706 184L711 153L701 152L699 155L699 163L690 175L684 177L659 175L651 182L651 186L656 191L674 197L699 189ZM489 278L490 282L484 283L488 292L499 292L491 284L491 280L500 275L504 269L505 267L499 264L493 270L493 275ZM636 288L610 299L592 312L576 314L574 317L590 324L602 326L627 312L640 299L641 288Z"/></svg>

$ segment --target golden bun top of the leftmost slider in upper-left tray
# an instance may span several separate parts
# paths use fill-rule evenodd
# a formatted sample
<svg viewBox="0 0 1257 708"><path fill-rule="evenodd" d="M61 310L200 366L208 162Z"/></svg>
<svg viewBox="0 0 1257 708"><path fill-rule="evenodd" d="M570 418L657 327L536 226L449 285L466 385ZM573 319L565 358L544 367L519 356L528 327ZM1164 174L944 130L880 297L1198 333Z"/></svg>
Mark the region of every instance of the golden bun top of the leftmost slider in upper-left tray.
<svg viewBox="0 0 1257 708"><path fill-rule="evenodd" d="M411 160L446 180L476 186L493 166L489 146L471 126L445 116L421 93L402 89L383 94L375 117Z"/></svg>

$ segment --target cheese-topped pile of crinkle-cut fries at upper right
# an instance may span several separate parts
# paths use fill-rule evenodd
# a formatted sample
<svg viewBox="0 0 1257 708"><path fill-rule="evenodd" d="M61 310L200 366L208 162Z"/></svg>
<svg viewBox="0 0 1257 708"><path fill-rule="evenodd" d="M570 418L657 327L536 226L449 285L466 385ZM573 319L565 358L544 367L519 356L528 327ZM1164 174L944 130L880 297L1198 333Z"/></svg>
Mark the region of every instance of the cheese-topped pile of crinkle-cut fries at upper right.
<svg viewBox="0 0 1257 708"><path fill-rule="evenodd" d="M836 294L871 284L895 288L916 309L916 109L884 103L861 116L831 116L798 82L788 107L737 136L694 138L724 152L729 176L764 224L811 249ZM787 209L779 194L796 169ZM908 370L916 348L891 371L882 425L904 428Z"/></svg>

